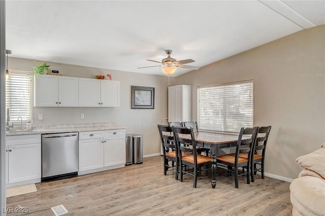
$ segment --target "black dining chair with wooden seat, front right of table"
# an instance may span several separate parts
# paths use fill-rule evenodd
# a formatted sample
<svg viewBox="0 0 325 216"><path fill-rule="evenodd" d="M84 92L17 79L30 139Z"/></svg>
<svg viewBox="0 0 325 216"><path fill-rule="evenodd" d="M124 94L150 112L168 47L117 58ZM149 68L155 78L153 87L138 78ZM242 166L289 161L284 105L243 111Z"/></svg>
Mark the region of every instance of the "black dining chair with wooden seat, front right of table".
<svg viewBox="0 0 325 216"><path fill-rule="evenodd" d="M256 140L256 134L258 131L258 127L253 128L241 128L238 141L236 144L236 153L235 154L228 154L217 156L217 167L222 168L228 171L228 178L230 178L231 173L234 173L235 179L235 187L238 188L238 176L246 175L247 184L250 184L250 161L251 161L251 154L253 154L253 149ZM249 135L248 137L243 135ZM248 154L247 158L239 157L241 151L246 151ZM246 171L243 171L239 174L238 169L240 167L247 167ZM220 175L223 176L223 175Z"/></svg>

